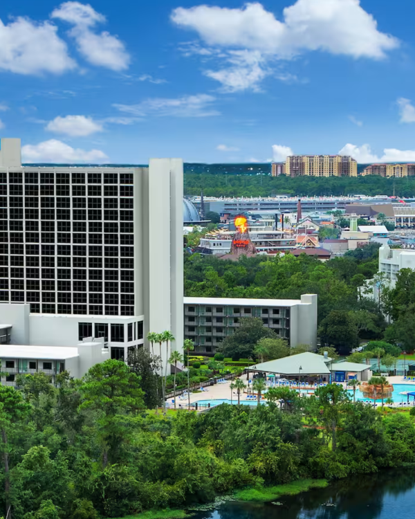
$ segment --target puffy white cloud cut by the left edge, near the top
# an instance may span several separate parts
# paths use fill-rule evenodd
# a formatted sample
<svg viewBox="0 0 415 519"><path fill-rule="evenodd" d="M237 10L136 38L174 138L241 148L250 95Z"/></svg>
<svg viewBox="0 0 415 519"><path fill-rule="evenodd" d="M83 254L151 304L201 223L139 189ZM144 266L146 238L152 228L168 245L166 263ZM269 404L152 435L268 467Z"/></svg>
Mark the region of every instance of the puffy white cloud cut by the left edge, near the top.
<svg viewBox="0 0 415 519"><path fill-rule="evenodd" d="M0 20L0 71L23 75L62 74L75 67L66 43L50 22L37 24L19 17L5 25Z"/></svg>

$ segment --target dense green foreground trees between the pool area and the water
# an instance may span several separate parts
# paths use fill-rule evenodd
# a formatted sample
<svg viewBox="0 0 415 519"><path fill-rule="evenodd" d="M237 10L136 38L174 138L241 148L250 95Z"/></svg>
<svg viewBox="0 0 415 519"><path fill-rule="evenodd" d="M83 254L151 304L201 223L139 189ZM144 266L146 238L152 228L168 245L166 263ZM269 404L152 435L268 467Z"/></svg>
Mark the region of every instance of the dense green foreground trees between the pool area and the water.
<svg viewBox="0 0 415 519"><path fill-rule="evenodd" d="M60 375L58 388L44 374L0 386L1 509L10 504L14 519L115 518L415 462L413 420L353 406L338 385L163 417L147 413L140 383L110 360L82 381Z"/></svg>

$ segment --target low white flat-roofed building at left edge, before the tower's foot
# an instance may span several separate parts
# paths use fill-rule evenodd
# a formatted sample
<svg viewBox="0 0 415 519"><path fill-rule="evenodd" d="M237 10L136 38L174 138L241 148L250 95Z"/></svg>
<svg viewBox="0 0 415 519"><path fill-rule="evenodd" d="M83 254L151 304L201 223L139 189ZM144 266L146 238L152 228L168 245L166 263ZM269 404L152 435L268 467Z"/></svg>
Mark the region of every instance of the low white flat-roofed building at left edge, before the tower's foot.
<svg viewBox="0 0 415 519"><path fill-rule="evenodd" d="M104 341L86 340L73 347L0 345L1 377L3 385L15 385L18 375L44 372L55 377L68 371L80 379L95 364L109 358Z"/></svg>

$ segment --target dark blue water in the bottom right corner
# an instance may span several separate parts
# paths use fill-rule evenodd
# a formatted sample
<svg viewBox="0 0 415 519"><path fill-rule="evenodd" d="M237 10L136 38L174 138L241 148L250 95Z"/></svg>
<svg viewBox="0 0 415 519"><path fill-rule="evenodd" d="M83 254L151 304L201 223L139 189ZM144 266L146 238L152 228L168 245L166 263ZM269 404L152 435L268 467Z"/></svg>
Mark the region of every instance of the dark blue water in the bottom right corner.
<svg viewBox="0 0 415 519"><path fill-rule="evenodd" d="M415 471L351 477L277 503L228 502L194 519L413 519Z"/></svg>

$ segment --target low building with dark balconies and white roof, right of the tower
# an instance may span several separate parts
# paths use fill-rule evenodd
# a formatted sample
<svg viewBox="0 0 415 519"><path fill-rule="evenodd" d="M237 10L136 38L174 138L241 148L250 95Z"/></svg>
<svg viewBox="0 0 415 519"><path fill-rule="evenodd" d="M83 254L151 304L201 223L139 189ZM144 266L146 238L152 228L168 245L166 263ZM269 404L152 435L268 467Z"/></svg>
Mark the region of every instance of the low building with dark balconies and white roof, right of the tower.
<svg viewBox="0 0 415 519"><path fill-rule="evenodd" d="M244 317L261 318L265 327L288 340L291 347L317 347L315 294L303 294L301 300L185 298L185 338L194 341L196 352L214 354Z"/></svg>

